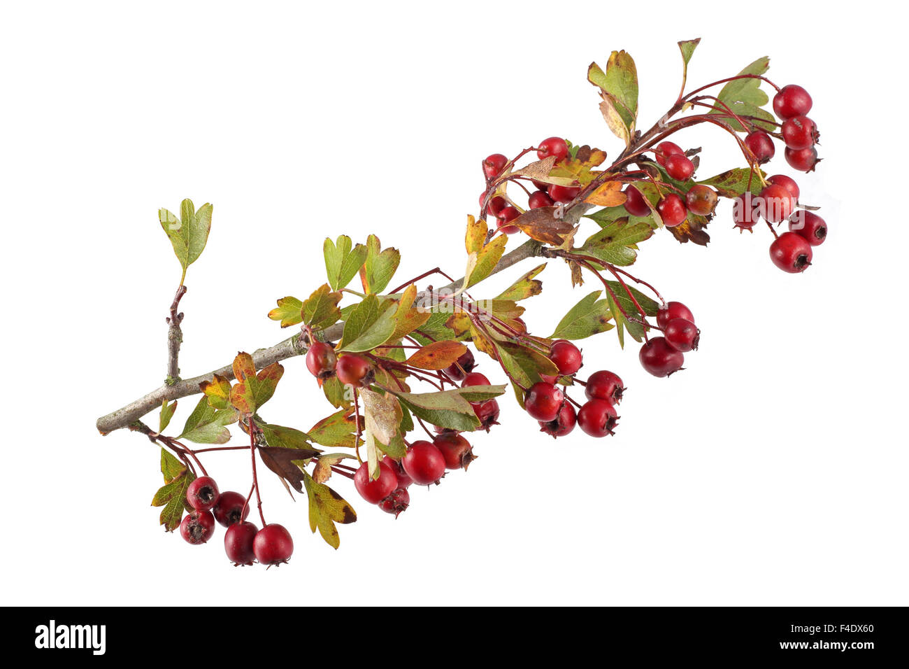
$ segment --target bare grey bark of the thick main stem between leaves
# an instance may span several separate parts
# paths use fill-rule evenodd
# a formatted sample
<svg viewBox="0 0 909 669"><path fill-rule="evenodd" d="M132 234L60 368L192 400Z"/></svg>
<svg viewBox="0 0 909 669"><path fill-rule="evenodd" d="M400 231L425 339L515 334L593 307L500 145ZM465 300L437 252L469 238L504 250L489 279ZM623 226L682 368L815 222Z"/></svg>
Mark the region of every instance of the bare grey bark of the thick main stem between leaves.
<svg viewBox="0 0 909 669"><path fill-rule="evenodd" d="M567 212L566 218L571 219L571 222L573 223L577 223L587 208L589 208L589 206L575 207ZM508 269L526 258L541 256L542 248L543 245L540 242L534 240L524 242L524 244L518 248L515 248L513 251L506 253L499 260L498 264L495 266L495 269L493 269L489 276L497 274L504 269ZM462 277L461 279L453 281L452 283L445 286L445 289L458 289L463 283L464 278ZM417 295L417 301L425 297L425 292L420 293ZM344 323L335 323L335 325L325 330L325 340L338 340L341 338L343 332ZM255 362L256 369L262 369L272 364L273 362L286 360L298 355L304 355L306 350L306 346L300 340L300 336L294 335L293 337L290 337L284 341L278 342L275 344L275 346L269 347L268 349L256 350L253 353L253 361ZM178 400L180 398L188 397L190 395L195 395L196 393L201 392L201 390L199 390L199 384L203 381L212 380L212 377L215 374L223 376L228 380L234 379L234 370L232 366L228 364L218 370L209 371L205 374L193 377L192 379L175 380L175 382L171 384L165 383L165 385L161 386L160 388L152 390L137 400L131 401L125 407L102 416L95 422L95 426L97 427L98 431L101 432L101 434L108 434L112 431L129 427L130 425L134 424L135 421L138 421L140 418L145 416L145 414L149 411L154 411L160 407L162 402L165 400Z"/></svg>

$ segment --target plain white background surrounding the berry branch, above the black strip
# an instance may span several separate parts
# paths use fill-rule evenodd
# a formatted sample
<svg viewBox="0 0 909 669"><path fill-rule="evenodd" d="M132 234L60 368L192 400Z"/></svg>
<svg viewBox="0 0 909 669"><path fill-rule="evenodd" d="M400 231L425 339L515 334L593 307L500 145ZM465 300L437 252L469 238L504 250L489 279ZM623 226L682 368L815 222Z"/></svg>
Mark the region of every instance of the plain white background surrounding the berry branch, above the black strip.
<svg viewBox="0 0 909 669"><path fill-rule="evenodd" d="M888 207L904 35L874 3L634 6L5 5L4 603L185 603L188 583L234 605L907 603L906 234ZM227 563L220 527L202 547L158 527L158 450L94 428L165 375L179 268L157 208L215 204L182 305L195 375L286 336L265 314L324 281L326 235L375 232L402 281L460 276L479 161L551 135L615 155L588 64L634 56L649 127L695 36L691 84L769 55L769 76L814 97L824 162L798 180L831 233L813 267L775 269L767 230L734 232L725 201L710 248L660 232L634 266L694 310L687 370L654 379L634 343L584 341L585 370L629 388L614 438L552 441L505 398L469 473L412 489L396 522L334 481L359 512L336 552L266 472L266 517L296 545L267 572ZM704 146L702 177L737 164L716 128L679 137ZM771 171L794 175L777 153ZM555 262L541 279L526 320L545 335L595 287L572 292ZM329 407L303 360L285 367L268 417L305 430ZM245 457L207 462L245 491Z"/></svg>

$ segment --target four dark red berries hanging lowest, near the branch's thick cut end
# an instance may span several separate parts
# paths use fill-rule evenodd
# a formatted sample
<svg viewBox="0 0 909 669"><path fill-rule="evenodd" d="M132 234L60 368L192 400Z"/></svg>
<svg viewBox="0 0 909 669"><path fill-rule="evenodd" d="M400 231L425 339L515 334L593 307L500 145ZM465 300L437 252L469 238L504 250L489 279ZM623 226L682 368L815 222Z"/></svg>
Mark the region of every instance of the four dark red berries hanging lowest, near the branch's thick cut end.
<svg viewBox="0 0 909 669"><path fill-rule="evenodd" d="M286 563L294 552L294 541L283 525L269 524L261 530L246 522L249 502L239 492L218 492L215 480L200 476L186 489L186 502L193 507L180 523L180 535L197 544L211 539L215 521L227 528L225 552L234 564Z"/></svg>

